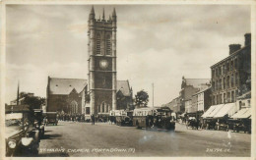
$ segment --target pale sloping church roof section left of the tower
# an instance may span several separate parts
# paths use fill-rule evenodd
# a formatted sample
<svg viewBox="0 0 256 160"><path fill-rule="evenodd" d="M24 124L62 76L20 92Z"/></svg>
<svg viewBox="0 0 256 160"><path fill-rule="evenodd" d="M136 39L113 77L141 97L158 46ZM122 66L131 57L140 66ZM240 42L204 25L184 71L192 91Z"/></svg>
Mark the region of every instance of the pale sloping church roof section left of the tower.
<svg viewBox="0 0 256 160"><path fill-rule="evenodd" d="M50 94L69 94L74 88L80 93L87 85L87 80L49 78L48 85Z"/></svg>

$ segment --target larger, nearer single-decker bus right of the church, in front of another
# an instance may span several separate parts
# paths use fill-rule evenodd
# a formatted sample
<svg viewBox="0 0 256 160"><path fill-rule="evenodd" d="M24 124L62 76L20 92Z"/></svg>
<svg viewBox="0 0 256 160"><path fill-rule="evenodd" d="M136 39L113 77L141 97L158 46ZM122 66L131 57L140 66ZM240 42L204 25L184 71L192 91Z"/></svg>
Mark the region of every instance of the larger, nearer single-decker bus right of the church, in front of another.
<svg viewBox="0 0 256 160"><path fill-rule="evenodd" d="M133 126L147 129L175 130L175 122L169 108L139 108L133 112Z"/></svg>

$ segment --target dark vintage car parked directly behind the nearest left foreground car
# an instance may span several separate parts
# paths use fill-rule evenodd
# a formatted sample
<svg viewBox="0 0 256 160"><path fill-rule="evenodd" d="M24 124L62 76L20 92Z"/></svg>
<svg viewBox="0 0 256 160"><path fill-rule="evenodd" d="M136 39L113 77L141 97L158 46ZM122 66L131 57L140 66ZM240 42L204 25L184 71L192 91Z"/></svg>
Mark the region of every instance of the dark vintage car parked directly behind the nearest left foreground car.
<svg viewBox="0 0 256 160"><path fill-rule="evenodd" d="M39 131L40 137L44 135L43 111L41 109L33 109L34 128Z"/></svg>

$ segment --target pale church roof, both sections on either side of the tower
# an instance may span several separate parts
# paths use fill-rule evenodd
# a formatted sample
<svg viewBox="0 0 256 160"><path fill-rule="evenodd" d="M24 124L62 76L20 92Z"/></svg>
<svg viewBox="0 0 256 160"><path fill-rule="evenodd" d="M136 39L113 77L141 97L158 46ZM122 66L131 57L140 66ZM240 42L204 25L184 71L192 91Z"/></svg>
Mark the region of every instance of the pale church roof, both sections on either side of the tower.
<svg viewBox="0 0 256 160"><path fill-rule="evenodd" d="M59 79L49 78L50 94L68 95L73 89L80 93L88 84L88 80L84 79ZM117 91L121 91L124 96L131 95L131 88L128 80L117 80Z"/></svg>

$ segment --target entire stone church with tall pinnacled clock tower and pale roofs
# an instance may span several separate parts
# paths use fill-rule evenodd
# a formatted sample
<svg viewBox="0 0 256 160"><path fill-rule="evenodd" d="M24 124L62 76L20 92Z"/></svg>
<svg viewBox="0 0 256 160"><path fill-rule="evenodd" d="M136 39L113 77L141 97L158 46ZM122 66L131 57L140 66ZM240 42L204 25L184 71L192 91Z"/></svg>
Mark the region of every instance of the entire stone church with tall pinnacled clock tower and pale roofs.
<svg viewBox="0 0 256 160"><path fill-rule="evenodd" d="M104 10L96 19L92 7L88 21L88 80L48 77L47 112L107 115L110 110L132 109L133 91L128 80L116 80L115 9L108 20Z"/></svg>

